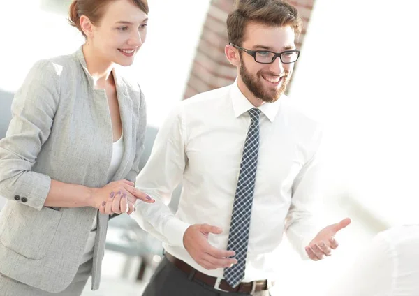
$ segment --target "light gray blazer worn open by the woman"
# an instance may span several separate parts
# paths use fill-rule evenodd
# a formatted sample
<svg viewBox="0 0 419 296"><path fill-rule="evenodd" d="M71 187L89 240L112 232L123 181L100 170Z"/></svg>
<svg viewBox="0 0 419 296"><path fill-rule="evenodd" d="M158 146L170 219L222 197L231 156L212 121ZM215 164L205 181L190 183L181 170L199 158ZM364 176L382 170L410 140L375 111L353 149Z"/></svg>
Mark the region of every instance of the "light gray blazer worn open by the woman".
<svg viewBox="0 0 419 296"><path fill-rule="evenodd" d="M114 180L135 182L144 147L145 100L137 83L114 70L125 153ZM15 94L13 118L0 140L0 273L57 293L80 265L98 215L92 289L101 276L108 215L92 207L43 207L51 179L98 188L107 184L112 125L103 89L94 89L82 48L38 61Z"/></svg>

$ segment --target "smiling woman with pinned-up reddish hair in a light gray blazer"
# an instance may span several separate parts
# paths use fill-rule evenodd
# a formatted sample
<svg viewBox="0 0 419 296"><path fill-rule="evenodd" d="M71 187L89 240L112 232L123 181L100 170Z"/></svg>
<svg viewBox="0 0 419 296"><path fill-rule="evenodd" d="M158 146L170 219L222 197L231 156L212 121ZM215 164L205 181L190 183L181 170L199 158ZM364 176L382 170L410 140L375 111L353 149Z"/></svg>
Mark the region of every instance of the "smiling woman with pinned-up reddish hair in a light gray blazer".
<svg viewBox="0 0 419 296"><path fill-rule="evenodd" d="M98 288L109 214L154 202L134 187L146 126L140 87L118 74L145 41L145 0L75 0L86 37L38 61L15 94L0 142L0 295Z"/></svg>

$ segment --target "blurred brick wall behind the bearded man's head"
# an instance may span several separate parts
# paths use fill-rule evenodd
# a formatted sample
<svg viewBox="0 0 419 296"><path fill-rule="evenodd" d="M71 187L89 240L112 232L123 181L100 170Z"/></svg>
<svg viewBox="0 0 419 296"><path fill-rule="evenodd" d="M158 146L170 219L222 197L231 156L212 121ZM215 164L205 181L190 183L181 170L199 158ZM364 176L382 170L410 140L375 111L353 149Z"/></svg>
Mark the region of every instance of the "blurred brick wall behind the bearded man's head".
<svg viewBox="0 0 419 296"><path fill-rule="evenodd" d="M304 22L302 34L297 42L297 47L300 48L310 20L314 0L289 0L288 3L299 10ZM233 6L234 0L212 0L184 98L224 87L235 80L237 70L230 65L224 55L224 47L228 43L226 20L228 13L233 10Z"/></svg>

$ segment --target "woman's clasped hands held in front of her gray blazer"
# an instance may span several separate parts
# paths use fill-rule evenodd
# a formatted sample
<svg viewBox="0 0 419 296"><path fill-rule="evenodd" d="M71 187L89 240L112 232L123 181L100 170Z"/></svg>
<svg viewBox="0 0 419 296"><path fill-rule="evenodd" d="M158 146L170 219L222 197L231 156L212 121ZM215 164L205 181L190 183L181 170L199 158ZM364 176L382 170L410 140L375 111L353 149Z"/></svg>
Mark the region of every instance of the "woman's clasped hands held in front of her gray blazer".
<svg viewBox="0 0 419 296"><path fill-rule="evenodd" d="M147 203L154 202L147 194L136 189L133 182L119 180L95 189L89 204L102 214L129 215L134 212L135 202L138 199Z"/></svg>

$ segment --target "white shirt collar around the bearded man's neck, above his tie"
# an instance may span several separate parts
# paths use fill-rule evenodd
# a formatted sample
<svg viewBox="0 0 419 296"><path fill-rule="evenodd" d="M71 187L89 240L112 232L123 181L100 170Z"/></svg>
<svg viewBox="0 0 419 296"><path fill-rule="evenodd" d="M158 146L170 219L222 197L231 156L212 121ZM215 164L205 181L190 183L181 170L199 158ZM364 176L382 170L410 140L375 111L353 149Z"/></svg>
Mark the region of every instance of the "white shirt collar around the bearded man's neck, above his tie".
<svg viewBox="0 0 419 296"><path fill-rule="evenodd" d="M236 118L240 117L240 115L249 111L251 108L255 108L255 106L253 106L253 104L249 102L249 100L244 96L244 94L242 94L242 91L240 91L239 86L237 84L237 79L231 85L230 96L231 101L233 103L233 110ZM267 119L269 119L272 122L278 114L280 105L281 98L279 98L277 101L273 103L264 103L263 105L259 106L258 109L263 114L265 114Z"/></svg>

